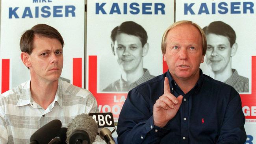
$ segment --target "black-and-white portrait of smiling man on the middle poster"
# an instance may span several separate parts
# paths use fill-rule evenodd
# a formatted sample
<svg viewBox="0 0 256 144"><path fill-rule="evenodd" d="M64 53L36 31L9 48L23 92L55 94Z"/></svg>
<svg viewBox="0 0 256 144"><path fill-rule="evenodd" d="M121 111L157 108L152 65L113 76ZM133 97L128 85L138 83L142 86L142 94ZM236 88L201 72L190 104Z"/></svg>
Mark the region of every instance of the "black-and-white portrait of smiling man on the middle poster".
<svg viewBox="0 0 256 144"><path fill-rule="evenodd" d="M148 34L143 26L134 21L124 21L113 27L109 34L108 50L111 54L108 58L111 61L106 61L102 57L100 74L104 74L104 69L102 69L104 65L116 71L111 74L114 77L110 81L100 79L102 92L128 92L155 77L145 67L145 61L143 62L144 57L147 57L150 51Z"/></svg>

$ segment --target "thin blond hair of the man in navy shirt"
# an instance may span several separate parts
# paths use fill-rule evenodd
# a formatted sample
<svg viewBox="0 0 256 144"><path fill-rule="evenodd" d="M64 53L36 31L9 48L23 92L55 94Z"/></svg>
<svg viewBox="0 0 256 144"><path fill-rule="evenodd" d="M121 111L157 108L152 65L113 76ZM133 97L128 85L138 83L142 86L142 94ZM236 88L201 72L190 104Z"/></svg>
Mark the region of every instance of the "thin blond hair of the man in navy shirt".
<svg viewBox="0 0 256 144"><path fill-rule="evenodd" d="M181 20L181 21L178 21L178 22L174 22L171 26L169 26L169 28L167 28L167 30L165 30L165 33L163 33L162 44L161 44L162 53L165 54L166 41L167 41L166 39L167 39L168 32L170 30L172 30L174 27L184 25L184 24L190 24L192 26L195 26L195 28L197 28L200 31L201 36L202 36L202 55L205 55L206 54L206 49L207 49L207 42L206 42L206 36L204 34L204 31L196 23L191 22L189 20Z"/></svg>

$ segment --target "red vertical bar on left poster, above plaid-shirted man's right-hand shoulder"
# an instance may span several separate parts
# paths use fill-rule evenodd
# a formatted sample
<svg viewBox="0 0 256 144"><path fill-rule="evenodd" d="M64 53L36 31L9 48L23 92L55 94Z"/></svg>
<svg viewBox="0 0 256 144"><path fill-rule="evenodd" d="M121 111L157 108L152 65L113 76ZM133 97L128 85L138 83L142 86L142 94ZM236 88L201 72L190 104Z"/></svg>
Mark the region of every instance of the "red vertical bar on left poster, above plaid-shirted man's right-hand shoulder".
<svg viewBox="0 0 256 144"><path fill-rule="evenodd" d="M73 85L82 87L82 58L73 58Z"/></svg>

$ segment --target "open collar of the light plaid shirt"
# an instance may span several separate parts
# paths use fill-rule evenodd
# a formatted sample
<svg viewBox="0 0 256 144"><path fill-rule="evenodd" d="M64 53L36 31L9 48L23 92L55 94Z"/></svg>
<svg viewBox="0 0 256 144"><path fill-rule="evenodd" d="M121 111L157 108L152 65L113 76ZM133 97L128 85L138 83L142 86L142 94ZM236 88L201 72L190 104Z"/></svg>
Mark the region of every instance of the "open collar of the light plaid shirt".
<svg viewBox="0 0 256 144"><path fill-rule="evenodd" d="M32 106L32 104L35 103L31 95L30 81L31 79L26 81L22 86L22 92L20 94L20 98L16 104L16 107L20 107L28 104ZM62 84L60 79L58 80L58 88L57 88L54 101L51 104L52 108L54 107L55 102L57 102L61 108L63 107L63 92L62 92Z"/></svg>

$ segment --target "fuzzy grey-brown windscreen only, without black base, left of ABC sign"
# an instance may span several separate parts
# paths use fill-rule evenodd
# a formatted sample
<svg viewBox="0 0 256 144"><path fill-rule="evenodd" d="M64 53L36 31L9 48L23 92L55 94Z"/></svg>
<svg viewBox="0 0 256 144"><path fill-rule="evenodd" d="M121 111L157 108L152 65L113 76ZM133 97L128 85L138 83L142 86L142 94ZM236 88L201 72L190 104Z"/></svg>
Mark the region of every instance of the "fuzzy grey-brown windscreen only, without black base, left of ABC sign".
<svg viewBox="0 0 256 144"><path fill-rule="evenodd" d="M67 144L69 144L69 139L72 133L78 130L85 131L89 136L90 144L92 144L98 131L98 124L91 116L83 113L72 119L67 126L67 129Z"/></svg>

